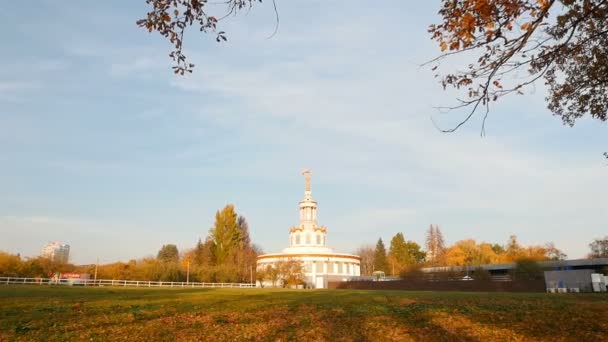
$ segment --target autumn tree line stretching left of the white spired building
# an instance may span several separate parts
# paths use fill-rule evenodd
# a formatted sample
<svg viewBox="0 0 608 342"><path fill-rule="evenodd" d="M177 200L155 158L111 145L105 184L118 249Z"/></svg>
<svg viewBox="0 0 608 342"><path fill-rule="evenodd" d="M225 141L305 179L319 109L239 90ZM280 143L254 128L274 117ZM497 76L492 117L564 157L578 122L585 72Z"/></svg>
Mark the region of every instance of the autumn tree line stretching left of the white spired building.
<svg viewBox="0 0 608 342"><path fill-rule="evenodd" d="M0 276L49 277L59 273L88 273L97 279L191 282L250 282L256 279L261 249L249 235L249 224L232 204L215 214L207 237L194 248L180 252L163 245L156 257L100 265L58 263L44 257L23 258L0 251Z"/></svg>

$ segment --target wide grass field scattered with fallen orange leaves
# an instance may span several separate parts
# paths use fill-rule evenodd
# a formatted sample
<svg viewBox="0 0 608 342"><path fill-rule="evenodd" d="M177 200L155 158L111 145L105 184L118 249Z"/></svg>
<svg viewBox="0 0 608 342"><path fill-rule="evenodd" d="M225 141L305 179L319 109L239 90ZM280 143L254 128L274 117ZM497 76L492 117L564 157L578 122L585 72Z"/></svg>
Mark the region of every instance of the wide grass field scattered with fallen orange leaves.
<svg viewBox="0 0 608 342"><path fill-rule="evenodd" d="M0 286L0 341L602 341L608 296Z"/></svg>

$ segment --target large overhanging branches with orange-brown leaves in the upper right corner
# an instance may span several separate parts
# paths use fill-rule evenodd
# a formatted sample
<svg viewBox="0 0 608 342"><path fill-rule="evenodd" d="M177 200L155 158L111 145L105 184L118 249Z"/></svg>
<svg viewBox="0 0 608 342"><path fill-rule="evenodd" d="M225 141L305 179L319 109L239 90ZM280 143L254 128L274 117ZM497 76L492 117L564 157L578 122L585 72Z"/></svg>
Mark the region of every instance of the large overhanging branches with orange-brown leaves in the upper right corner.
<svg viewBox="0 0 608 342"><path fill-rule="evenodd" d="M446 57L464 53L468 67L438 73L444 88L464 91L451 107L478 110L482 134L490 103L544 78L548 108L572 126L585 114L608 118L607 0L443 0L441 22L429 33ZM606 155L608 158L608 155Z"/></svg>

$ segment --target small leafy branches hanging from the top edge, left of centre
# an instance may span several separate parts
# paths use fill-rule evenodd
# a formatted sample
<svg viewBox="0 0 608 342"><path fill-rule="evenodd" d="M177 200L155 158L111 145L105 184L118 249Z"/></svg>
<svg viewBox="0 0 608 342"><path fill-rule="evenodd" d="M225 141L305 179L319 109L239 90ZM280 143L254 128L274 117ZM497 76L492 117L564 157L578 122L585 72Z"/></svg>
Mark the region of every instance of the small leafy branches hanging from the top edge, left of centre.
<svg viewBox="0 0 608 342"><path fill-rule="evenodd" d="M173 71L184 75L185 72L192 72L194 67L194 64L186 62L183 53L185 30L194 25L200 32L214 33L217 42L226 41L226 33L217 30L219 21L241 10L250 9L256 2L262 0L227 0L224 2L227 6L226 13L218 17L207 11L206 0L146 0L152 8L146 18L137 21L137 26L148 32L156 31L169 40L173 45L173 51L169 54L175 63Z"/></svg>

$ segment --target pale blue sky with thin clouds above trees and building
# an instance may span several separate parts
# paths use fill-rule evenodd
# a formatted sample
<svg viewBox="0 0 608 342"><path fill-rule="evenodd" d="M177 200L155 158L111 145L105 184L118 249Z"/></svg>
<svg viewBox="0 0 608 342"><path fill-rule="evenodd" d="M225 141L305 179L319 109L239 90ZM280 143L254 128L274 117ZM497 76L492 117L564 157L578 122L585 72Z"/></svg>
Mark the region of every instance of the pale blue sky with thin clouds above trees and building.
<svg viewBox="0 0 608 342"><path fill-rule="evenodd" d="M421 67L439 2L277 1L191 31L192 75L139 29L138 1L0 4L0 250L71 246L74 263L127 261L204 239L236 206L264 252L288 245L301 171L328 245L398 232L424 243L554 242L569 258L608 235L605 123L564 126L542 84L475 117ZM211 11L222 13L213 5ZM442 68L457 68L462 58ZM466 64L464 64L466 65Z"/></svg>

